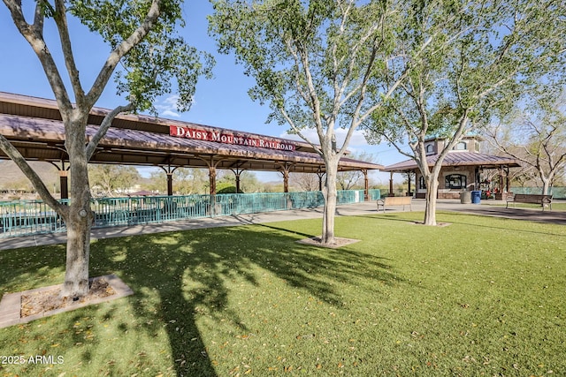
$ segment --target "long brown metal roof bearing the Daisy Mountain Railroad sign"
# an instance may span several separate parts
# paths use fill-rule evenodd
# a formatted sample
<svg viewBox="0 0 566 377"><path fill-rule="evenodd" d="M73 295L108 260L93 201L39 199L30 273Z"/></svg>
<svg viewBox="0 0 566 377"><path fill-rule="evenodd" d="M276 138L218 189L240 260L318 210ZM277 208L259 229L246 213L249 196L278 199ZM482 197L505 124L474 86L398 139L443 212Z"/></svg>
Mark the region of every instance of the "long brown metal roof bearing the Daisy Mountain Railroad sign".
<svg viewBox="0 0 566 377"><path fill-rule="evenodd" d="M88 118L87 139L109 112L95 108ZM235 137L256 137L291 143L294 151L223 144L200 139L184 139L169 134L170 126L228 132ZM68 161L65 151L65 127L57 102L20 94L0 92L0 133L29 160ZM5 155L0 151L0 158ZM324 161L310 144L255 133L238 132L203 124L171 119L119 115L101 140L90 162L145 166L183 166L206 168L213 162L218 169L277 171L290 166L293 172L320 172ZM379 170L382 165L342 158L339 170Z"/></svg>

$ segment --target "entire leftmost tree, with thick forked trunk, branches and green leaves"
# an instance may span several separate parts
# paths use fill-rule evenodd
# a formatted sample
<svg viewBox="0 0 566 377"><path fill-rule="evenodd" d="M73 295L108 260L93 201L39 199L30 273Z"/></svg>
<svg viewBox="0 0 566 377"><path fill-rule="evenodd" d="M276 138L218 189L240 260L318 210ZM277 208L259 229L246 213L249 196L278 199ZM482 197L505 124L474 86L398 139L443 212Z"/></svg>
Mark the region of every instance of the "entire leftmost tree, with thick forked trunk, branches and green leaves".
<svg viewBox="0 0 566 377"><path fill-rule="evenodd" d="M90 208L88 160L119 113L153 109L151 103L158 95L173 90L179 94L179 109L188 109L196 78L210 73L210 58L187 47L175 33L182 26L180 0L38 0L29 21L21 1L4 0L4 4L19 33L40 60L65 124L65 150L72 182L70 205L62 205L53 198L41 178L2 135L0 147L30 179L42 200L65 221L67 263L63 295L82 296L88 291L90 227L94 216ZM90 87L84 86L73 55L71 17L100 34L110 47L109 55L101 58L100 69ZM48 22L56 26L58 45L48 46L44 37ZM55 49L63 53L62 64L51 53ZM123 71L117 72L119 64ZM125 102L103 118L96 134L85 145L88 114L114 73L117 73L118 93L123 94Z"/></svg>

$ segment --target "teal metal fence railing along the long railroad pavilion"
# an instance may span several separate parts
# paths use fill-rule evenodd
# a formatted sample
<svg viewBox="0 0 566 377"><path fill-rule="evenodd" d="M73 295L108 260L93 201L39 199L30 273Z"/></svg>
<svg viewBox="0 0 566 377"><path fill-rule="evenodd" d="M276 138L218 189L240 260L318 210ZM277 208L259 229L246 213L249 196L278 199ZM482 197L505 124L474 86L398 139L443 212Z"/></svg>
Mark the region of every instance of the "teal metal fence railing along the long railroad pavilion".
<svg viewBox="0 0 566 377"><path fill-rule="evenodd" d="M370 199L379 190L370 190ZM339 191L338 204L363 201L363 190ZM186 196L98 198L91 201L93 228L256 214L324 206L322 192L265 192ZM65 222L41 200L0 202L0 238L55 233Z"/></svg>

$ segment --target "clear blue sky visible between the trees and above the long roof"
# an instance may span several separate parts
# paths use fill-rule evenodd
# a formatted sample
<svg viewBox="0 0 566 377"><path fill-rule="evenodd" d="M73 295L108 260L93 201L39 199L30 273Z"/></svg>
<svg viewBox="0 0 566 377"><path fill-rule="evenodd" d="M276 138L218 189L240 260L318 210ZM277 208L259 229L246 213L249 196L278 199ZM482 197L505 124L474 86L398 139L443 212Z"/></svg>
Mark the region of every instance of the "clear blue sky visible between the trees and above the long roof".
<svg viewBox="0 0 566 377"><path fill-rule="evenodd" d="M34 2L27 3L34 4ZM161 110L160 116L243 132L288 137L286 127L265 124L269 107L252 102L249 98L248 89L254 85L254 80L243 74L243 67L235 64L233 56L218 54L214 39L208 35L206 16L211 12L212 7L208 0L187 1L184 10L187 26L182 34L189 44L215 56L217 64L213 71L214 78L199 81L196 87L195 102L190 111L179 114L166 99L163 99L156 104ZM50 22L49 25L46 24L45 38L51 53L57 56L60 55L57 49L58 44L54 43L57 41L55 39L57 34L54 26L50 24ZM73 51L77 57L83 86L88 89L110 49L96 34L90 34L88 29L79 23L71 22L71 27ZM53 99L54 96L42 71L42 65L27 41L16 30L4 4L0 5L0 35L2 40L0 91ZM116 90L111 81L96 106L111 109L124 103L115 93ZM316 138L313 137L312 140ZM386 144L369 146L362 132L357 132L350 141L348 149L354 153L366 151L375 156L375 162L384 165L406 160L406 157ZM256 173L256 175L263 180L280 179L275 173ZM372 174L373 180L383 184L386 184L388 177L388 173Z"/></svg>

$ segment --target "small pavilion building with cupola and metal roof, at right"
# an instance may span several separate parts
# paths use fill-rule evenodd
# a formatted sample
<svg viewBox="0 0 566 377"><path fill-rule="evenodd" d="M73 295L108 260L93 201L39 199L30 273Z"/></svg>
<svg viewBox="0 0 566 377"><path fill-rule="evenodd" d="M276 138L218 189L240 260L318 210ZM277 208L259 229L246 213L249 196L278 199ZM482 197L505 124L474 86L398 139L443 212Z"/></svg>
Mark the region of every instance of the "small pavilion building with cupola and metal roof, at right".
<svg viewBox="0 0 566 377"><path fill-rule="evenodd" d="M432 168L438 160L439 152L444 148L446 139L434 138L427 139L424 147L426 148L426 162ZM438 199L459 199L463 191L472 190L492 190L495 192L496 199L504 199L509 193L509 168L519 167L520 163L509 157L497 155L485 155L479 153L480 139L476 136L465 137L453 150L449 151L442 162L439 175ZM482 179L486 170L496 170L497 185L493 186L491 181ZM416 192L411 190L409 179L408 195L416 198L424 198L426 185L424 177L417 166L415 160L407 160L386 166L383 171L390 172L389 193L393 195L393 174L409 173L415 177Z"/></svg>

